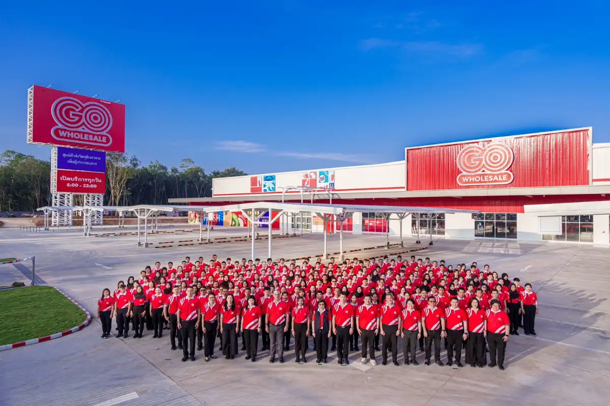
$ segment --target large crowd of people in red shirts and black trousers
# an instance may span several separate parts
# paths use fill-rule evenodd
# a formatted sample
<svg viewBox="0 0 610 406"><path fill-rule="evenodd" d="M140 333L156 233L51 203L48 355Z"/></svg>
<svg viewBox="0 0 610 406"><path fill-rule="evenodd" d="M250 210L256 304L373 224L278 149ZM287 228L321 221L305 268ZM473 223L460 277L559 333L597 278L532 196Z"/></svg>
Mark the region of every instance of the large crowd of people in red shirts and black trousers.
<svg viewBox="0 0 610 406"><path fill-rule="evenodd" d="M284 362L293 341L295 362L305 363L309 337L315 360L326 363L330 351L348 364L350 351L360 351L360 362L398 365L465 363L504 369L504 350L510 335L536 335L538 300L530 284L498 275L489 265L479 269L445 261L403 261L387 256L337 263L246 260L208 262L186 257L174 268L169 262L146 266L139 276L119 281L113 292L104 289L98 302L101 338L109 338L112 320L118 337L142 338L146 326L152 338L169 330L171 349L182 349L182 361L195 360L195 348L206 362L216 359L217 339L226 359L240 351L255 362L260 351L270 351L269 362ZM359 348L359 344L362 349ZM381 349L379 345L381 344ZM487 356L489 354L489 362ZM391 358L390 358L391 355ZM421 359L421 358L420 358Z"/></svg>

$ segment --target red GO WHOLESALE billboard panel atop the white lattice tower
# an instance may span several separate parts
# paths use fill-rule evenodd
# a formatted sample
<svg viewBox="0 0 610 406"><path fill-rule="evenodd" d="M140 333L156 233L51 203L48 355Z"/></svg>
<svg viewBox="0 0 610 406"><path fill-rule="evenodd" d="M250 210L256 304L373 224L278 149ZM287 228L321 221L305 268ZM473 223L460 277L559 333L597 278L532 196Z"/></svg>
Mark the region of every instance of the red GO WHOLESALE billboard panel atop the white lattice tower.
<svg viewBox="0 0 610 406"><path fill-rule="evenodd" d="M125 105L32 86L27 142L125 152Z"/></svg>

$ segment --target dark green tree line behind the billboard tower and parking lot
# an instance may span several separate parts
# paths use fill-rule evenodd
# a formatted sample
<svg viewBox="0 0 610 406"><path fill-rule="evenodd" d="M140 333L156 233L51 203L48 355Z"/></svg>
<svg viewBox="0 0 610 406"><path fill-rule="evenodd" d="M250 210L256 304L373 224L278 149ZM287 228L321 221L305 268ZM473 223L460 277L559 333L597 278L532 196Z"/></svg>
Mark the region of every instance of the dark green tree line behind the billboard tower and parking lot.
<svg viewBox="0 0 610 406"><path fill-rule="evenodd" d="M106 195L109 206L160 205L169 198L210 197L212 179L243 176L236 167L210 173L190 158L178 167L167 167L157 159L146 166L135 155L106 154ZM82 204L75 196L74 205ZM51 205L51 162L12 150L0 154L0 209L34 211Z"/></svg>

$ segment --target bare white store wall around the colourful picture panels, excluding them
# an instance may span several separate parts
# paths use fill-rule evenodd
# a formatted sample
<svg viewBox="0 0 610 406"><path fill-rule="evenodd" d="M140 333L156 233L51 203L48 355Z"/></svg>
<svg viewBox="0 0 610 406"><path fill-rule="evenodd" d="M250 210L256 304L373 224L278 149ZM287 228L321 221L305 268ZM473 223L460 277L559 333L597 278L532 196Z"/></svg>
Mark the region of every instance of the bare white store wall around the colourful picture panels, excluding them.
<svg viewBox="0 0 610 406"><path fill-rule="evenodd" d="M281 192L279 187L301 186L301 181L303 180L303 175L305 173L318 172L320 170L334 170L335 189L337 189L337 191L360 192L367 189L404 189L405 187L406 172L404 169L404 161L400 161L387 164L265 173L234 178L217 178L212 181L213 195L231 196L250 194L250 178L263 175L276 175L276 191Z"/></svg>

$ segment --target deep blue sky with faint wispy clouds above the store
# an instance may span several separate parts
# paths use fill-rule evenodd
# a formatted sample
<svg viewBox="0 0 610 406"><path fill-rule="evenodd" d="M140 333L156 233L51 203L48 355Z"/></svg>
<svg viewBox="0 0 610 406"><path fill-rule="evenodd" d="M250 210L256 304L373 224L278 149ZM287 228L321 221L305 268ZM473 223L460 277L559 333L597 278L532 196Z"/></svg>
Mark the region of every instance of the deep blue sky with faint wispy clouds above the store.
<svg viewBox="0 0 610 406"><path fill-rule="evenodd" d="M0 150L50 156L26 144L27 88L50 83L125 103L143 164L207 171L590 125L610 142L606 2L124 3L2 2Z"/></svg>

